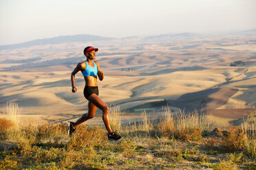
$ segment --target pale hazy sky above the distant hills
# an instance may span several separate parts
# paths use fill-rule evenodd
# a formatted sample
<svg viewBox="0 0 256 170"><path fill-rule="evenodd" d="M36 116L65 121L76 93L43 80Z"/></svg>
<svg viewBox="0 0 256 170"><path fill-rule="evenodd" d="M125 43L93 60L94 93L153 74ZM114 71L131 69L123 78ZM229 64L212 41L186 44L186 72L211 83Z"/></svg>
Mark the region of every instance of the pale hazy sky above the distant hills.
<svg viewBox="0 0 256 170"><path fill-rule="evenodd" d="M256 29L255 0L0 0L0 45L91 34L121 38Z"/></svg>

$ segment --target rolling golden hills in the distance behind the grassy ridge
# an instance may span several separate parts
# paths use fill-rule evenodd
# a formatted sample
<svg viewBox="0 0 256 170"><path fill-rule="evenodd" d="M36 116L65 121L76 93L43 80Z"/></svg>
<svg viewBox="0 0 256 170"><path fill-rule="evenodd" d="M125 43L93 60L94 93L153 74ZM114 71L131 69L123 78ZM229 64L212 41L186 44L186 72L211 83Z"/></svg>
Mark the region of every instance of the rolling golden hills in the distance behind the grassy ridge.
<svg viewBox="0 0 256 170"><path fill-rule="evenodd" d="M92 45L100 49L96 59L105 73L104 81L99 82L100 97L109 106L119 104L126 112L125 122L140 119L143 110L162 114L162 106L168 105L172 111L203 109L226 123L240 123L256 106L252 95L256 35L255 31L237 34L88 36L89 42L86 36L84 42L75 42L77 36L70 36L67 42L62 38L51 44L47 39L41 45L2 46L0 104L4 108L8 101L15 101L22 108L24 121L77 119L87 110L84 80L81 73L76 75L78 93L73 94L70 74L78 62L86 60L84 47ZM237 61L243 64L231 66ZM100 111L88 123L102 123Z"/></svg>

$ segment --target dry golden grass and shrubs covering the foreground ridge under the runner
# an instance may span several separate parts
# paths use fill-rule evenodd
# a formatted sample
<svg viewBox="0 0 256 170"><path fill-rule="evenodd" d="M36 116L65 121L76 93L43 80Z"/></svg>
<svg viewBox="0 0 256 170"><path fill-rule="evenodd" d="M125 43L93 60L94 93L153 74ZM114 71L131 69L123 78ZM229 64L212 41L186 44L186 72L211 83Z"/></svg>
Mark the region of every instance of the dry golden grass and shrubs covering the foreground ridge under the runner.
<svg viewBox="0 0 256 170"><path fill-rule="evenodd" d="M112 119L113 125L124 137L119 142L107 141L106 130L99 126L80 125L69 138L67 124L16 128L12 121L0 119L1 132L5 132L1 143L17 143L1 150L0 169L255 167L255 145L250 143L254 134L244 133L245 127L230 127L229 133L219 129L215 133L217 136L214 136L211 131L213 123L207 122L205 115L198 112L187 115L183 112L173 113L168 109L165 109L163 116L155 117L158 121L149 119L144 111L141 114L143 121L122 127L121 111L118 106L114 110L111 111L111 116L116 114ZM207 138L202 136L202 130L208 130Z"/></svg>

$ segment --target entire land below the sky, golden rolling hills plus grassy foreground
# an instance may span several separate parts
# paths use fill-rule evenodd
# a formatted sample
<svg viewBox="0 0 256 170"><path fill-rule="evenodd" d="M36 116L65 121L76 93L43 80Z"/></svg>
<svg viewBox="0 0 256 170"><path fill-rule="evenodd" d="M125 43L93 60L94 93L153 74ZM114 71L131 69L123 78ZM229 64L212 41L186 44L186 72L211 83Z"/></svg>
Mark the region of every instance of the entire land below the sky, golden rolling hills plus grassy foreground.
<svg viewBox="0 0 256 170"><path fill-rule="evenodd" d="M0 169L256 169L255 31L67 37L0 47ZM67 135L88 109L70 76L89 45L119 142L100 110Z"/></svg>

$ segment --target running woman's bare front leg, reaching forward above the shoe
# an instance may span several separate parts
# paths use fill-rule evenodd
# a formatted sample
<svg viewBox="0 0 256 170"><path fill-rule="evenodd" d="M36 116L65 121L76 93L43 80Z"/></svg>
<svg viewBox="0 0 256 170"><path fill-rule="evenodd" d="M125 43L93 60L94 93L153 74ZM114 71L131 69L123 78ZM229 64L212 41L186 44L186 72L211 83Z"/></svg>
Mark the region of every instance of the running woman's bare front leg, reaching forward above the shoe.
<svg viewBox="0 0 256 170"><path fill-rule="evenodd" d="M109 116L108 116L108 106L98 97L96 94L91 94L88 97L89 101L94 104L94 106L97 106L97 108L100 108L102 110L102 119L104 121L104 124L106 126L106 130L108 130L108 134L112 133L113 131L111 130L110 123L109 123Z"/></svg>

